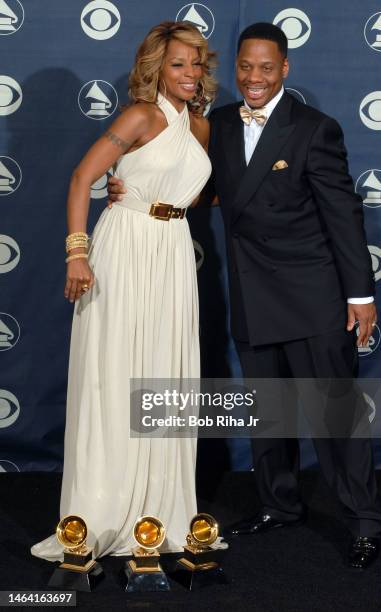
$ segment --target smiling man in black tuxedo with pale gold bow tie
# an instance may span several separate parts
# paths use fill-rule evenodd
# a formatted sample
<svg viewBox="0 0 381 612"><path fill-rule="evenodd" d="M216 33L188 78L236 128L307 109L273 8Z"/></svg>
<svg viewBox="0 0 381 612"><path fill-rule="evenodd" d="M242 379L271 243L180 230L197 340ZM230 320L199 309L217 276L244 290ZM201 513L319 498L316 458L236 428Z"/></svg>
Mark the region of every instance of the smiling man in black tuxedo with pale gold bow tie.
<svg viewBox="0 0 381 612"><path fill-rule="evenodd" d="M374 281L361 200L348 174L336 121L283 89L287 38L255 24L238 43L237 84L244 102L210 115L213 174L225 223L231 332L245 378L351 378L358 344L376 322ZM111 179L117 200L123 186ZM349 563L376 559L381 512L371 443L315 439L323 473L353 539ZM300 524L296 439L253 441L262 511L230 529L257 534Z"/></svg>

